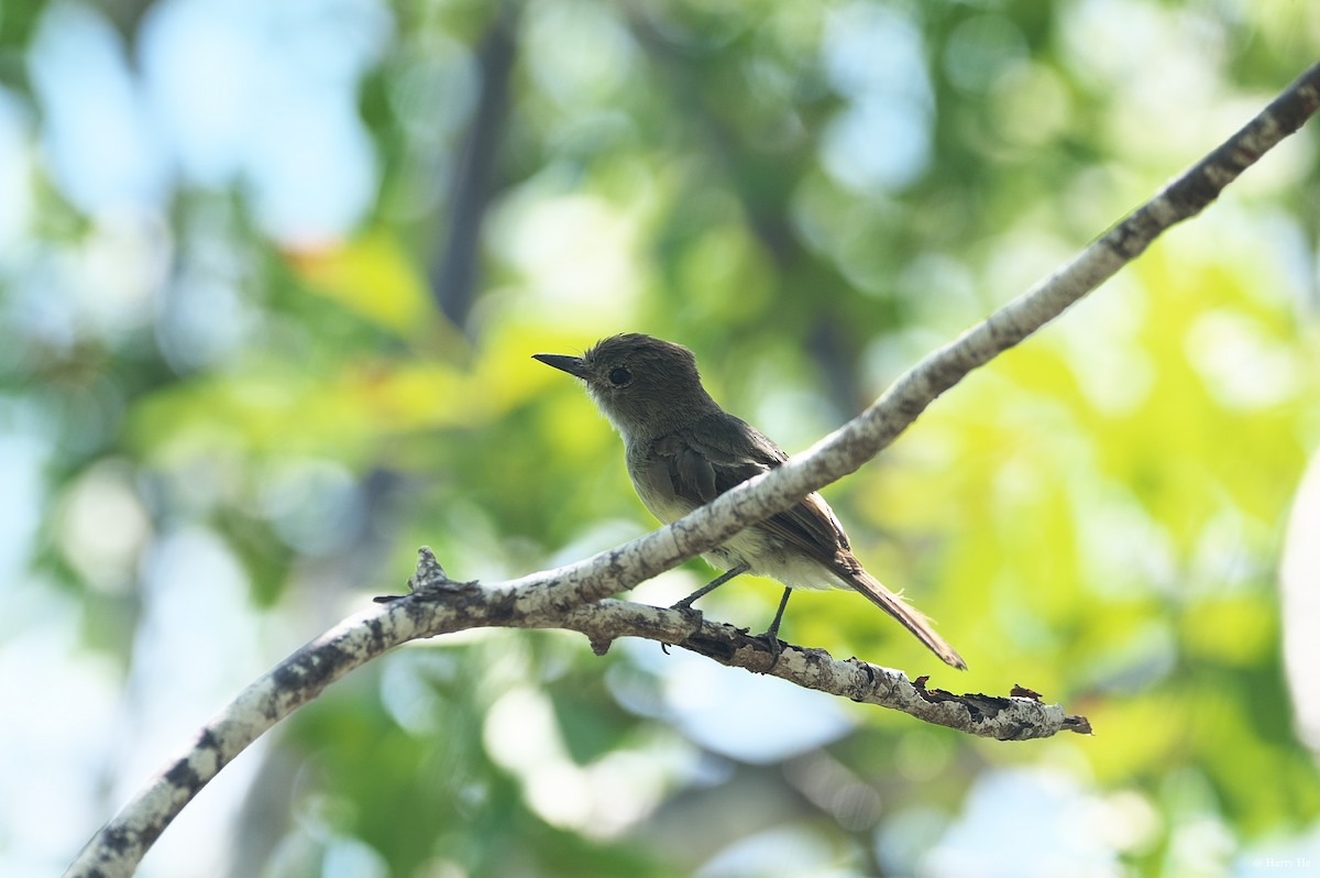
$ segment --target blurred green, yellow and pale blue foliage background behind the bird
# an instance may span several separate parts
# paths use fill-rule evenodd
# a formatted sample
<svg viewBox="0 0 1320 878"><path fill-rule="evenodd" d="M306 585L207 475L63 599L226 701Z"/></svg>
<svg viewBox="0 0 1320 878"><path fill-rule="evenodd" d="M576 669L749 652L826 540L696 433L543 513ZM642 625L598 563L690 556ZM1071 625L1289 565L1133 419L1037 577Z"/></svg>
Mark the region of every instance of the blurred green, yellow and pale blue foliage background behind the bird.
<svg viewBox="0 0 1320 878"><path fill-rule="evenodd" d="M499 580L651 528L531 354L680 341L800 450L1317 49L1308 0L5 0L0 871L62 869L418 545ZM843 593L789 640L1094 737L470 632L284 722L141 874L1320 869L1316 147L826 490L972 669ZM706 611L759 630L777 594Z"/></svg>

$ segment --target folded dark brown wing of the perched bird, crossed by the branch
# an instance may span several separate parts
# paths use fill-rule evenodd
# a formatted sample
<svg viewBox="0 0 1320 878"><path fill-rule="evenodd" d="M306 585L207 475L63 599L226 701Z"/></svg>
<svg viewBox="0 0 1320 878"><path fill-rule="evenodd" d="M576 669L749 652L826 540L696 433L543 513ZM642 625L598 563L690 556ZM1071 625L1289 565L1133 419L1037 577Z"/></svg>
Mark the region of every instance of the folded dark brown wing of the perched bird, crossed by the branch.
<svg viewBox="0 0 1320 878"><path fill-rule="evenodd" d="M659 440L652 452L675 495L702 506L735 485L746 482L788 459L766 436L733 415L710 415L689 430ZM760 527L833 566L840 549L849 549L847 535L820 494L808 494L792 508L772 515Z"/></svg>

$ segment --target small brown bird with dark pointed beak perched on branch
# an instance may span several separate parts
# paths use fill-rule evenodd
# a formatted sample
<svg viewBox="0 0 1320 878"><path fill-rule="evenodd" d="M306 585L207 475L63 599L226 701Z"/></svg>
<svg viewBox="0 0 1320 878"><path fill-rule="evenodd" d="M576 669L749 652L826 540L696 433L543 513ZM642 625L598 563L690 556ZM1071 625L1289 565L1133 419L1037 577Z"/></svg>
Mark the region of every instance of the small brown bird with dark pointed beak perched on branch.
<svg viewBox="0 0 1320 878"><path fill-rule="evenodd" d="M788 459L777 445L710 399L696 358L680 345L627 334L606 338L582 356L536 354L535 359L582 379L623 437L638 496L664 523ZM940 659L954 668L968 667L929 619L862 568L820 494L808 494L787 512L747 528L702 557L726 572L676 607L690 606L742 573L777 580L787 588L764 635L777 647L779 623L793 589L854 589Z"/></svg>

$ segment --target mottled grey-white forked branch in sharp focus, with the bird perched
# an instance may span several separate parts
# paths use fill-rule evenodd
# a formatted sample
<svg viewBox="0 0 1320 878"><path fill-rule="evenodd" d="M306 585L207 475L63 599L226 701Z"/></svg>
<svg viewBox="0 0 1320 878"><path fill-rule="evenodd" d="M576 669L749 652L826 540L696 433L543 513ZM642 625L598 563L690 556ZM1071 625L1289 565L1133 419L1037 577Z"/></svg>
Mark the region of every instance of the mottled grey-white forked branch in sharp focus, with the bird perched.
<svg viewBox="0 0 1320 878"><path fill-rule="evenodd" d="M785 648L779 663L772 664L763 644L729 626L706 623L698 614L603 598L719 545L861 467L968 372L1057 317L1142 253L1166 228L1200 213L1317 107L1320 65L1309 67L1245 128L1055 275L929 354L866 412L804 454L668 527L585 561L488 588L449 581L426 552L413 580L413 594L345 621L244 689L87 844L66 875L132 874L197 791L272 725L395 646L469 627L565 627L591 638L598 652L616 636L648 636L678 643L723 664L770 672L999 739L1089 730L1084 718L1040 704L1030 697L1034 693L998 698L927 691L924 679L913 684L896 671L857 659L836 661L824 651L800 647Z"/></svg>

